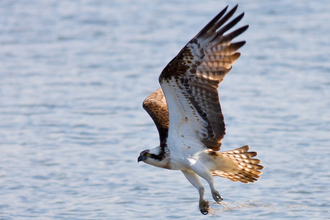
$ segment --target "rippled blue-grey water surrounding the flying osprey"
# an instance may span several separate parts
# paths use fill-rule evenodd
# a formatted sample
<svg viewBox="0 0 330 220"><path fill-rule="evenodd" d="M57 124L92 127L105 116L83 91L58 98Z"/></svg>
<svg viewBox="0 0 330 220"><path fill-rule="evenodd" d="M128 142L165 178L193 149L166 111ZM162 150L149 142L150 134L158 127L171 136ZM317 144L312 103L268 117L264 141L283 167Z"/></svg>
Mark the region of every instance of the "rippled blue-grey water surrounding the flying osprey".
<svg viewBox="0 0 330 220"><path fill-rule="evenodd" d="M255 184L216 178L224 202L202 216L181 172L137 164L158 144L141 104L182 46L236 3L250 28L219 88L222 149L249 144L265 169ZM329 8L1 1L0 218L329 219Z"/></svg>

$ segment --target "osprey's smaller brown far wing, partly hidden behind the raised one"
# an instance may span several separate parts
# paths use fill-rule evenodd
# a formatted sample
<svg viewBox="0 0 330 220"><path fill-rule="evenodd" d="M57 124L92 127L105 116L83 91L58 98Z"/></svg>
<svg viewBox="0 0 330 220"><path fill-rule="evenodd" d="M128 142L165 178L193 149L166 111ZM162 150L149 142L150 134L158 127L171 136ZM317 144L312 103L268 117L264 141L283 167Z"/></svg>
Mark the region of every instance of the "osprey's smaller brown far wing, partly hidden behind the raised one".
<svg viewBox="0 0 330 220"><path fill-rule="evenodd" d="M155 90L144 100L143 108L154 121L158 129L160 144L162 145L166 141L169 125L167 104L162 88Z"/></svg>

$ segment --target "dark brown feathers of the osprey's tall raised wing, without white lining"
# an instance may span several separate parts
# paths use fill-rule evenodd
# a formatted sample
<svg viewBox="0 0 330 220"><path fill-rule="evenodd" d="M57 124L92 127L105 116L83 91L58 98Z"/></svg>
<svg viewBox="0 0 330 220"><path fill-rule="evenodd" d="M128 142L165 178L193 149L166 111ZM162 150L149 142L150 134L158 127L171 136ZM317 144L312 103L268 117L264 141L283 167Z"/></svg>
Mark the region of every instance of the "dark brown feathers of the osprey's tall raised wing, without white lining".
<svg viewBox="0 0 330 220"><path fill-rule="evenodd" d="M207 123L199 132L205 147L219 150L225 135L224 117L221 111L218 86L239 58L236 51L245 41L231 43L248 25L225 34L235 26L244 13L225 24L235 13L237 6L225 14L227 7L212 19L162 71L159 82L172 79L188 94L190 103ZM225 24L225 25L224 25ZM165 94L166 95L166 94Z"/></svg>

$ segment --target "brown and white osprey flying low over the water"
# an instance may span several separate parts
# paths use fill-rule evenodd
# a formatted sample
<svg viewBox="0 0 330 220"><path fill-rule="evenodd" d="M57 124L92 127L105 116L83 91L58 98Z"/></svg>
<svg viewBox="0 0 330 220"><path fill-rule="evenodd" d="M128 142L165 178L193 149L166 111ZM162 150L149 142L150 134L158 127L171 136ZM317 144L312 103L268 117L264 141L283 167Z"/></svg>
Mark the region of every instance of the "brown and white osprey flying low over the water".
<svg viewBox="0 0 330 220"><path fill-rule="evenodd" d="M171 170L181 170L199 192L199 209L208 214L204 200L204 178L214 200L223 199L214 187L213 176L235 182L257 181L263 166L254 159L249 146L219 152L225 135L224 117L218 97L218 86L239 58L236 51L245 41L231 43L248 25L227 33L244 13L225 24L237 5L227 14L228 6L215 16L165 67L159 76L161 88L143 102L153 119L160 145L140 153L138 162Z"/></svg>

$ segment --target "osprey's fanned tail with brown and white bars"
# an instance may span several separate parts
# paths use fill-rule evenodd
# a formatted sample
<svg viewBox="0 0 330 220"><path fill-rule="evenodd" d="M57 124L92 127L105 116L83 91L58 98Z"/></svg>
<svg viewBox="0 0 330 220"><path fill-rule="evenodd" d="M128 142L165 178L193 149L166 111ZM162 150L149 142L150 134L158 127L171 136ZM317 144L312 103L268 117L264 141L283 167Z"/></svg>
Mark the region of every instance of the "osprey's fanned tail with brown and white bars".
<svg viewBox="0 0 330 220"><path fill-rule="evenodd" d="M218 169L213 170L212 175L225 177L234 182L249 183L258 181L257 178L260 178L262 174L260 170L264 167L259 165L260 160L252 158L257 155L257 152L248 152L248 150L249 146L245 145L235 150L212 152L212 154L221 155L216 161Z"/></svg>

